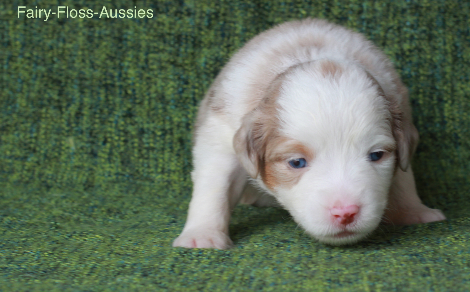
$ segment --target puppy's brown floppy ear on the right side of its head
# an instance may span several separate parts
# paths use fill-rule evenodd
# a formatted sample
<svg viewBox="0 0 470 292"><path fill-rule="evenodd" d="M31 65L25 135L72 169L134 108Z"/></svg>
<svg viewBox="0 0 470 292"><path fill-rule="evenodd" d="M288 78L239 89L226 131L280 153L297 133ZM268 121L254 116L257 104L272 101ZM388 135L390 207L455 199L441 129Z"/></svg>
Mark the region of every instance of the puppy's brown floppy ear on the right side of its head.
<svg viewBox="0 0 470 292"><path fill-rule="evenodd" d="M392 106L393 136L397 141L397 159L401 170L406 171L418 145L419 134L413 125L411 107L408 102L408 91L399 84L401 105Z"/></svg>

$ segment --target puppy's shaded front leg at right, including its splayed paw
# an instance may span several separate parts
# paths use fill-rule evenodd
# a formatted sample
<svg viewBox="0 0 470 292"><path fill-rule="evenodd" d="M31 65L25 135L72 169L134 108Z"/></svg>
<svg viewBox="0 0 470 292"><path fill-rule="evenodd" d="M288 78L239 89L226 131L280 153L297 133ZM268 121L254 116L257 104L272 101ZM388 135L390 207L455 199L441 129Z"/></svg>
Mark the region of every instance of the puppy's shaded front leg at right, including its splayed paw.
<svg viewBox="0 0 470 292"><path fill-rule="evenodd" d="M406 172L398 169L390 188L384 223L407 225L445 219L441 210L426 207L419 199L411 166Z"/></svg>

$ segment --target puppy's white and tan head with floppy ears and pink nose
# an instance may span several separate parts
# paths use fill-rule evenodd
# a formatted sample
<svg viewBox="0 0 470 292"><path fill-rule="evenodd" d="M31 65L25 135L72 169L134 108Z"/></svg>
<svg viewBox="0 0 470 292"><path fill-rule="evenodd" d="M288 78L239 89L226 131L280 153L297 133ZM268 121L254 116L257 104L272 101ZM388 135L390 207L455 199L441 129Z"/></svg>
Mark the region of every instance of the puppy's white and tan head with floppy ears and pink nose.
<svg viewBox="0 0 470 292"><path fill-rule="evenodd" d="M414 151L399 108L365 69L312 61L274 80L234 147L307 233L354 243L381 221L394 170Z"/></svg>

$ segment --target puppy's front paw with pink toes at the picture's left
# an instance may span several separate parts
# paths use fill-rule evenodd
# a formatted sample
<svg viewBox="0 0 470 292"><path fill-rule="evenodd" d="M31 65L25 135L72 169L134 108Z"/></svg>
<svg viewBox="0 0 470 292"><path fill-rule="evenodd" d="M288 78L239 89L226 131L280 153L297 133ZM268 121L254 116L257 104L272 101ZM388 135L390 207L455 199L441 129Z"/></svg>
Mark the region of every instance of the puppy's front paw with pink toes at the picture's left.
<svg viewBox="0 0 470 292"><path fill-rule="evenodd" d="M233 246L232 240L222 231L183 231L173 241L173 247L228 249Z"/></svg>

